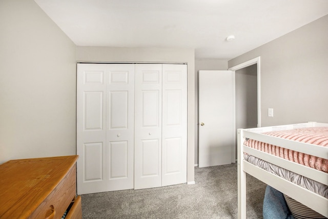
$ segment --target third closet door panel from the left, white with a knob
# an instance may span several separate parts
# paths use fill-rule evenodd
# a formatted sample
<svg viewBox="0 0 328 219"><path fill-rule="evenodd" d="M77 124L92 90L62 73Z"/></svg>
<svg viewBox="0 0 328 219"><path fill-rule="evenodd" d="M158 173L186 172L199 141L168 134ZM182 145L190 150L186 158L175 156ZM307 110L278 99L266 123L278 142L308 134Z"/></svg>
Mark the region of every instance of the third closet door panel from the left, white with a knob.
<svg viewBox="0 0 328 219"><path fill-rule="evenodd" d="M161 84L161 64L135 66L135 189L161 186Z"/></svg>

